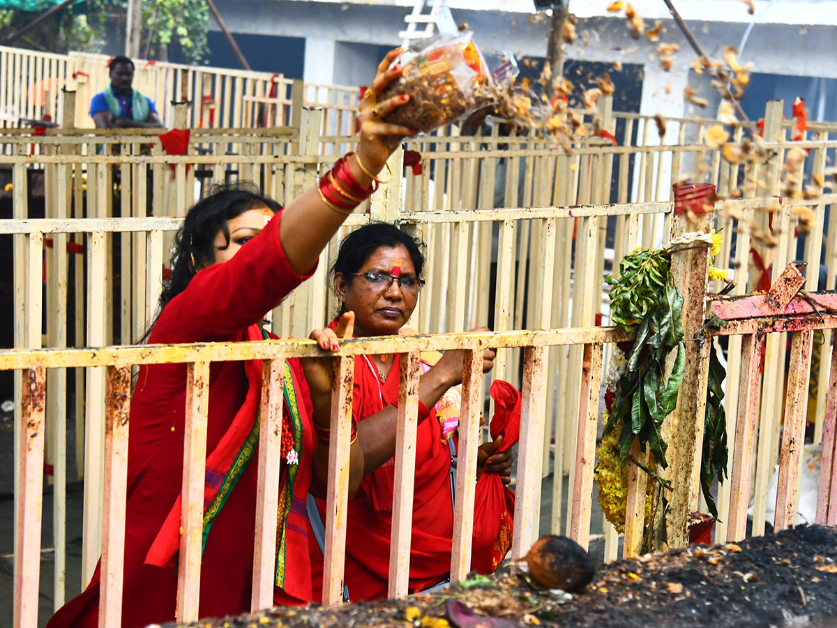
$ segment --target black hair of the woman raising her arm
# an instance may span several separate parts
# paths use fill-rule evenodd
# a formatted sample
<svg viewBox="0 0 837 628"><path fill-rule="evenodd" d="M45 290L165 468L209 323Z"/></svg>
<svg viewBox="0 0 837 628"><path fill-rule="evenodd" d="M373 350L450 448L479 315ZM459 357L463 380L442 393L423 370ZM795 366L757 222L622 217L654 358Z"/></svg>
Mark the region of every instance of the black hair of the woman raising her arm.
<svg viewBox="0 0 837 628"><path fill-rule="evenodd" d="M168 301L186 290L189 281L215 258L214 240L220 231L229 246L229 220L249 209L267 207L274 214L282 206L261 195L254 183L214 185L206 198L189 209L177 230L172 247L172 275L160 295L160 311ZM225 247L226 248L226 247Z"/></svg>

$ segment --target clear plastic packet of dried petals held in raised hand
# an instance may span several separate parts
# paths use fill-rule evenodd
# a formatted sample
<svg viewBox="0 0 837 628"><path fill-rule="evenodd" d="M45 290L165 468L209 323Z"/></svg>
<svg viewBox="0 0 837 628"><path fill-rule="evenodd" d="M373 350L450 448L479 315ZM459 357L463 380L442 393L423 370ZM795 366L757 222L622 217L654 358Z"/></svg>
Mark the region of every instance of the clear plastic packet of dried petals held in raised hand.
<svg viewBox="0 0 837 628"><path fill-rule="evenodd" d="M439 33L413 44L393 61L403 65L403 75L378 95L378 101L403 94L410 100L386 121L428 133L492 100L491 75L472 34Z"/></svg>

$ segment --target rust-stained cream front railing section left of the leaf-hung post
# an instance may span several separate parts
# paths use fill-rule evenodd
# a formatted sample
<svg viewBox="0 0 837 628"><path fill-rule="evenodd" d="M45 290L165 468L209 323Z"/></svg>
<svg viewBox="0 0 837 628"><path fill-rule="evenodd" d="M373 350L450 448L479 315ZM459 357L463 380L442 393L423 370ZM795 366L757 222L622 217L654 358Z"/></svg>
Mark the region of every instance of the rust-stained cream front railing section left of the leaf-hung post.
<svg viewBox="0 0 837 628"><path fill-rule="evenodd" d="M537 425L537 416L531 413L531 404L535 403L539 390L537 380L542 379L546 363L537 359L537 353L543 347L581 344L586 352L597 354L601 358L603 342L624 342L629 334L613 328L593 327L588 329L553 329L530 332L503 333L465 333L443 334L436 336L379 337L353 339L341 343L337 353L336 389L351 390L353 379L352 357L376 353L399 353L405 360L418 355L420 351L444 351L465 349L469 355L479 357L485 348L526 347L527 357L524 363L526 383L523 386L522 442L521 450L538 452L533 456L520 456L517 465L516 497L519 503L526 504L537 499L540 492L541 476L537 471L539 460L541 430L527 429ZM330 358L326 356L326 358ZM20 477L25 490L16 492L18 503L18 545L15 582L15 626L29 628L37 625L39 597L40 564L40 502L43 484L44 457L44 408L46 403L46 373L51 368L106 368L107 407L100 414L88 411L88 421L92 425L105 425L105 488L102 495L90 497L104 504L104 526L101 541L102 580L100 612L102 625L118 624L121 617L121 562L124 555L125 495L127 469L127 420L130 412L130 373L136 364L187 363L187 424L186 433L191 435L184 443L183 473L183 534L181 538L180 567L178 573L178 620L197 620L199 594L200 538L202 535L201 509L189 507L193 497L201 502L203 490L203 454L198 445L206 438L206 417L208 413L208 368L209 364L229 360L263 360L265 373L281 373L282 361L288 358L322 357L323 353L315 342L310 341L270 341L270 342L227 342L197 345L148 345L140 347L100 347L96 349L41 349L33 351L0 351L0 370L18 369L23 371L22 381L22 421L26 426L21 430L21 456L19 462ZM476 358L475 358L476 359ZM471 399L463 408L460 425L460 464L457 468L455 499L454 551L451 559L451 579L453 582L465 578L470 565L470 533L473 527L474 482L476 472L476 447L479 445L479 415L482 396L481 368L471 369L465 361L464 399ZM413 373L412 375L410 373ZM479 377L471 377L477 373ZM402 382L413 380L418 373L404 369L400 373ZM585 394L598 394L600 369L588 369L588 376L581 382ZM281 392L275 384L276 378L268 379L262 396L262 415L278 420L280 415ZM338 391L338 392L339 392ZM278 396L278 400L276 397ZM406 417L413 424L418 409L418 387L403 386L402 404L413 408L412 416ZM324 603L336 603L341 600L341 581L343 551L345 551L345 522L347 509L347 475L340 473L341 466L347 464L349 449L348 426L352 416L351 404L336 404L332 410L331 430L336 435L331 441L328 474L328 499L326 512L326 568L323 588ZM542 417L541 417L542 418ZM588 422L585 412L583 422ZM95 429L95 428L94 428ZM270 438L273 430L261 430L259 447L263 455L259 461L259 481L264 484L266 461L278 460L279 440ZM396 464L402 470L396 494L403 492L403 487L412 481L413 468L405 461L408 446L401 438L396 450ZM414 461L413 461L414 464ZM579 469L592 483L592 461L579 462ZM534 467L534 468L533 468ZM579 485L573 495L573 507L578 512L589 512L591 494L583 494ZM194 496L193 496L194 493ZM275 496L270 492L259 495L259 512L263 521L275 522ZM410 528L412 512L409 508L393 511L393 528ZM513 557L521 558L526 549L534 542L531 522L527 522L528 512L517 508L515 512L515 536ZM589 523L589 522L588 522ZM93 533L85 529L85 536ZM272 603L273 561L275 559L275 529L270 526L259 527L256 531L257 553L254 556L254 590L269 590L269 597L254 596L254 610ZM575 538L586 544L589 528L578 527ZM193 543L193 539L197 541ZM409 570L409 536L401 535L399 543L393 544L393 564L398 571L393 579L398 582L394 595L403 597L407 594L407 574Z"/></svg>

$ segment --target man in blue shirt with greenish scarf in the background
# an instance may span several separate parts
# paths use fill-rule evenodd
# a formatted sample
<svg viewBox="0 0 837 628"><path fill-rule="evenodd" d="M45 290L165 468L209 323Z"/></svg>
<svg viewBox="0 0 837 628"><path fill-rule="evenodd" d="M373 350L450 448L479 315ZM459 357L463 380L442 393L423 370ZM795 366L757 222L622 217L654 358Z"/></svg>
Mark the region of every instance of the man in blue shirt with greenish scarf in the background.
<svg viewBox="0 0 837 628"><path fill-rule="evenodd" d="M133 89L134 62L114 57L108 64L110 85L90 100L90 116L97 129L161 128L154 102Z"/></svg>

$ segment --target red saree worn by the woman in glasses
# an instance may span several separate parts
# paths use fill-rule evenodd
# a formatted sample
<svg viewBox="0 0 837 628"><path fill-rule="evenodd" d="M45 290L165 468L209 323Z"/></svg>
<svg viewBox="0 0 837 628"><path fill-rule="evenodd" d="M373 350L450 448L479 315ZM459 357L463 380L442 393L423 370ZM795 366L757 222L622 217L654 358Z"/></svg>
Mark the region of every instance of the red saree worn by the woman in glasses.
<svg viewBox="0 0 837 628"><path fill-rule="evenodd" d="M331 323L331 327L336 322ZM366 358L355 358L355 380L352 414L359 423L383 409L388 404L398 404L398 356L385 382L381 382L372 364ZM519 407L518 407L519 418ZM419 591L447 579L450 572L451 543L453 537L453 505L451 503L449 469L450 452L444 426L440 425L435 410L419 423L416 439L416 471L413 483L413 532L410 543L409 589ZM511 430L509 433L511 436ZM511 439L510 439L511 440ZM516 440L516 439L514 439ZM513 445L513 442L511 443ZM505 443L504 443L505 445ZM511 445L509 445L511 446ZM344 582L352 601L382 599L387 595L389 578L390 534L394 491L394 457L367 476L357 494L349 500L347 517L347 543ZM485 486L491 486L489 476L483 474ZM493 476L501 485L500 476ZM493 490L493 489L492 489ZM478 495L484 492L477 483ZM503 524L503 512L514 512L514 496L504 495L502 502L488 501L477 508L480 517L496 525L474 528L474 558L471 569L490 573L496 567L494 555L505 557L511 546L511 516L508 518L508 543L498 545L497 539ZM508 499L511 498L511 510ZM325 501L317 500L320 512L325 512ZM503 528L505 529L505 528ZM505 533L503 533L505 538ZM485 557L479 556L487 553ZM321 595L322 554L311 543L311 568L314 573L315 595ZM497 562L500 563L502 558Z"/></svg>

